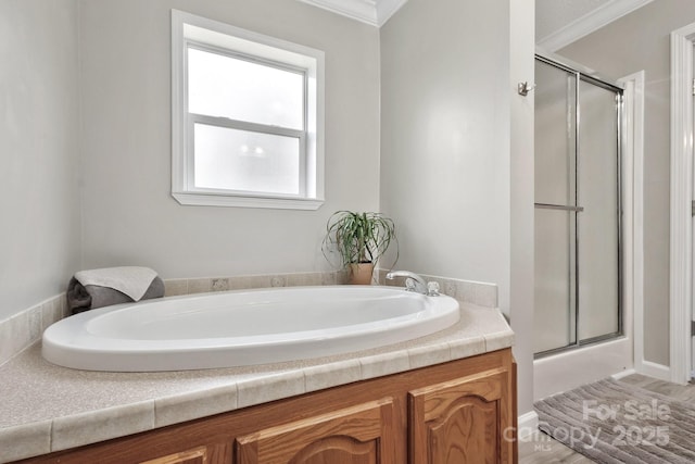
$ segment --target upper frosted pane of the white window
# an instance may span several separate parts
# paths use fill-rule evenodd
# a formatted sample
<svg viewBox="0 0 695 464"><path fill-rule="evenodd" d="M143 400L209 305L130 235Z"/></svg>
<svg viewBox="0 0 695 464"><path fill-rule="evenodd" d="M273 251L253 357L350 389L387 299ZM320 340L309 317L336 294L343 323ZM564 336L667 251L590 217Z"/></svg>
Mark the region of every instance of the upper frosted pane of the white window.
<svg viewBox="0 0 695 464"><path fill-rule="evenodd" d="M304 75L189 48L188 111L304 130Z"/></svg>

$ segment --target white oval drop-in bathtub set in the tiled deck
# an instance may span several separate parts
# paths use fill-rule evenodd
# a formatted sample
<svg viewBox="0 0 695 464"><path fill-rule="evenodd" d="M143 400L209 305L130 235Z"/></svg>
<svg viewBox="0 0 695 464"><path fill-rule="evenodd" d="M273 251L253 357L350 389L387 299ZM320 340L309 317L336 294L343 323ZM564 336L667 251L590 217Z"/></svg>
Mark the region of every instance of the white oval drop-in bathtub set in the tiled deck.
<svg viewBox="0 0 695 464"><path fill-rule="evenodd" d="M319 358L422 337L458 302L394 287L291 287L201 293L87 311L43 333L65 367L150 372Z"/></svg>

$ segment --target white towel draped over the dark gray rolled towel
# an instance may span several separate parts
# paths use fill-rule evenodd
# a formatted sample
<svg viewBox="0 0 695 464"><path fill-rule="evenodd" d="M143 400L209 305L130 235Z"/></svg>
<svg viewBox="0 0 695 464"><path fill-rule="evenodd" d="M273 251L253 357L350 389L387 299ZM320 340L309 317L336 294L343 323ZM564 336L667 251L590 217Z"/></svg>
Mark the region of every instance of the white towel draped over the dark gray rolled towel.
<svg viewBox="0 0 695 464"><path fill-rule="evenodd" d="M110 287L134 301L140 301L155 277L155 271L140 266L103 267L75 273L75 278L84 286Z"/></svg>

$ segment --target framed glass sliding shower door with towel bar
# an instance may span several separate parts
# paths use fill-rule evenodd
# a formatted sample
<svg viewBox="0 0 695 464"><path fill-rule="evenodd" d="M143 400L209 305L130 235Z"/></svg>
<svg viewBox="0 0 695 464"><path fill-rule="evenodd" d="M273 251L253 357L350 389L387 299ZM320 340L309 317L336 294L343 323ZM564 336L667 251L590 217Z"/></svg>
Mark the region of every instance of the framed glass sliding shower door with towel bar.
<svg viewBox="0 0 695 464"><path fill-rule="evenodd" d="M621 335L622 91L535 62L536 356Z"/></svg>

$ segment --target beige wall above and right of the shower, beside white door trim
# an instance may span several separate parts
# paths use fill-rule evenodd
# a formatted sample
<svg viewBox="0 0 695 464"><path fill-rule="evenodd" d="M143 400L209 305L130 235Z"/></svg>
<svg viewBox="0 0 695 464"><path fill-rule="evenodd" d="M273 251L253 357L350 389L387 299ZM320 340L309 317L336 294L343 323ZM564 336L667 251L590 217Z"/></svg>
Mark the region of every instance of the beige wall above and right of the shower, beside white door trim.
<svg viewBox="0 0 695 464"><path fill-rule="evenodd" d="M695 22L695 2L660 0L558 54L616 79L645 71L644 356L669 365L670 33Z"/></svg>

